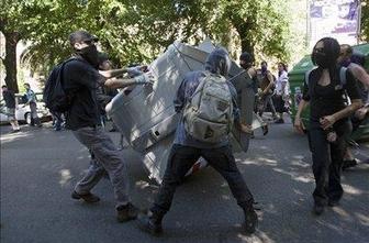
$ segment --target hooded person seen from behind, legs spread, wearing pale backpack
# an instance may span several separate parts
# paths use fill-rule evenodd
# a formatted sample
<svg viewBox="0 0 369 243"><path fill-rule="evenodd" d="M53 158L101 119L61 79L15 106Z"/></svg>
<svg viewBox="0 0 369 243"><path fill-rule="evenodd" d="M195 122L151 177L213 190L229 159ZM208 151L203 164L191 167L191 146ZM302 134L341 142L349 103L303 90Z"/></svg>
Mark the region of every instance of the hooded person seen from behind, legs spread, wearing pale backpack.
<svg viewBox="0 0 369 243"><path fill-rule="evenodd" d="M148 213L138 218L142 230L154 235L161 233L161 221L170 209L176 187L203 157L228 183L244 210L246 232L255 231L258 220L254 198L236 166L228 141L233 123L239 126L236 90L225 79L230 67L228 53L216 48L209 54L205 70L188 73L178 88L175 109L182 118L159 192Z"/></svg>

